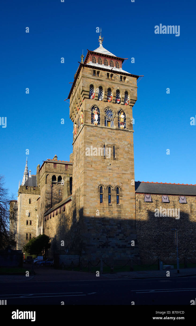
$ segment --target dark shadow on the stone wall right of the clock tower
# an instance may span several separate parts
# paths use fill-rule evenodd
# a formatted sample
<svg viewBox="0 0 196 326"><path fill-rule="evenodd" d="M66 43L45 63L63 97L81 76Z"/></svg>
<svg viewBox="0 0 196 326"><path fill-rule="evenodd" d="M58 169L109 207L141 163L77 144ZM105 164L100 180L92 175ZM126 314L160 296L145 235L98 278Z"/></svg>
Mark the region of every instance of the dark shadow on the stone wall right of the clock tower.
<svg viewBox="0 0 196 326"><path fill-rule="evenodd" d="M136 220L139 254L142 262L153 262L160 258L166 263L176 261L174 232L178 231L178 256L183 260L196 259L196 223L190 221L190 216L180 211L180 218L155 217L155 212L148 211L148 219Z"/></svg>

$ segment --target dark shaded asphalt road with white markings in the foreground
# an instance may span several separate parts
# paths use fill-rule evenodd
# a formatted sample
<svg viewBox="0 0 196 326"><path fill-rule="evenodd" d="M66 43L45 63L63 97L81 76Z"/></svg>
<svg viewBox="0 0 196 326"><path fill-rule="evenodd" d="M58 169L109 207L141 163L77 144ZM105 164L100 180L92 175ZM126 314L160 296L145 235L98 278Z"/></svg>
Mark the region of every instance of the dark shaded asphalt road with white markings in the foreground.
<svg viewBox="0 0 196 326"><path fill-rule="evenodd" d="M0 299L36 305L190 305L196 276L159 279L97 279L1 283Z"/></svg>

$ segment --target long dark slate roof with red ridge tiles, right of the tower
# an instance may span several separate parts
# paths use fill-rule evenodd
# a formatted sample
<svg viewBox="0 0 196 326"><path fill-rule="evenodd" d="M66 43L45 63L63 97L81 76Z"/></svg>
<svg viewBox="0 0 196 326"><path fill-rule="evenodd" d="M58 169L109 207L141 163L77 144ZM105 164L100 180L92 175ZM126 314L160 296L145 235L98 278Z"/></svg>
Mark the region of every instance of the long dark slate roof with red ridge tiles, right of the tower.
<svg viewBox="0 0 196 326"><path fill-rule="evenodd" d="M135 192L161 195L196 196L196 185L167 184L135 181Z"/></svg>

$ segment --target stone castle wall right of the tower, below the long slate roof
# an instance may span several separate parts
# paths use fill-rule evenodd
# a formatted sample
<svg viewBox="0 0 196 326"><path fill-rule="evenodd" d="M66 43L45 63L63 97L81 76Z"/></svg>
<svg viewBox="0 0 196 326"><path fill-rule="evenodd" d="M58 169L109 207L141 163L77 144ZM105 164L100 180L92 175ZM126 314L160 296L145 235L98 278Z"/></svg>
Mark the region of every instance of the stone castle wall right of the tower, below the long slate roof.
<svg viewBox="0 0 196 326"><path fill-rule="evenodd" d="M136 225L139 254L142 261L155 261L158 257L166 263L176 261L174 235L178 231L179 259L196 259L196 196L186 196L187 204L179 196L168 195L170 203L162 203L161 195L151 194L152 202L144 202L144 194L136 193ZM155 209L180 209L175 216L155 217ZM178 213L178 211L176 211ZM171 215L171 214L169 214Z"/></svg>

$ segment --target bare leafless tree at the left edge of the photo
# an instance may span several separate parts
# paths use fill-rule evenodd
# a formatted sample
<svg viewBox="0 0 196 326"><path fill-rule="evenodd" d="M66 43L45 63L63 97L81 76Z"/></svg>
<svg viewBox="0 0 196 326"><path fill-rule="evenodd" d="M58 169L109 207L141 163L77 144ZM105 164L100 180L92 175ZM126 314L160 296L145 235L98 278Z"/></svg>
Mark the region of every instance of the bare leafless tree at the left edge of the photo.
<svg viewBox="0 0 196 326"><path fill-rule="evenodd" d="M9 232L10 223L14 223L14 215L9 213L9 198L8 189L5 188L5 177L0 175L0 249L5 249L14 244L13 237Z"/></svg>

